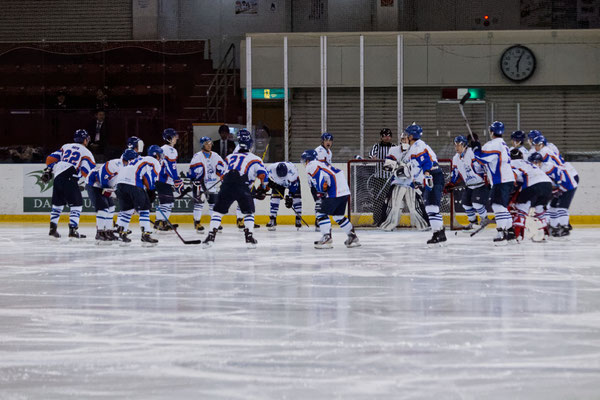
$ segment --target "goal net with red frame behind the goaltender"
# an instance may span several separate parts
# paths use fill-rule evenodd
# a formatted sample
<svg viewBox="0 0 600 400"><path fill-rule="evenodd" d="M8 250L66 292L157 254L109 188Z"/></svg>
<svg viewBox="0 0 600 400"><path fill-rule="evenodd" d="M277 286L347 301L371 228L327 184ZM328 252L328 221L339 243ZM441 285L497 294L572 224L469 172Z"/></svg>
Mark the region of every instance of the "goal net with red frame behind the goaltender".
<svg viewBox="0 0 600 400"><path fill-rule="evenodd" d="M376 228L386 218L386 209L391 195L391 173L383 170L384 160L348 161L348 183L350 186L349 217L352 225L359 228ZM445 182L450 181L451 160L438 160L444 171ZM461 229L456 214L464 212L460 207L462 189L442 195L440 212L444 217L444 226L449 229ZM457 199L455 201L454 199ZM398 228L410 228L408 209L402 210Z"/></svg>

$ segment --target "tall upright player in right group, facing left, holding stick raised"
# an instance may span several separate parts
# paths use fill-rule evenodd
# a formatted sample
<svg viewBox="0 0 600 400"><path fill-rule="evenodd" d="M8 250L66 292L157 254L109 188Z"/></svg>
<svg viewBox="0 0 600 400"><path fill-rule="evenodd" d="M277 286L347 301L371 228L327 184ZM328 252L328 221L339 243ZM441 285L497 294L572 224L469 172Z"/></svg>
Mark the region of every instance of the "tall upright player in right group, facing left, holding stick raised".
<svg viewBox="0 0 600 400"><path fill-rule="evenodd" d="M478 141L472 141L471 147L477 160L485 164L488 178L492 184L490 201L496 217L496 230L498 235L494 243L498 246L505 245L515 239L512 226L512 217L508 211L510 194L515 185L515 177L510 167L508 146L502 139L504 124L495 121L490 125L491 140L483 148Z"/></svg>

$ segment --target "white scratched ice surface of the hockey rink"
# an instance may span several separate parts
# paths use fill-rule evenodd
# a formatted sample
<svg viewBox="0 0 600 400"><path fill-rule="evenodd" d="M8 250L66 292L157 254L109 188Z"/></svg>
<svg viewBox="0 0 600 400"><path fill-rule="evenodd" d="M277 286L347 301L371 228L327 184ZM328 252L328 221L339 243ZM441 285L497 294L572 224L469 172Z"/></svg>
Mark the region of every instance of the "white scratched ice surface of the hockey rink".
<svg viewBox="0 0 600 400"><path fill-rule="evenodd" d="M0 224L0 398L600 396L598 228L435 249L363 230L346 249L334 227L332 250L290 226L254 250L232 225L211 249L172 233L143 248L132 228L120 247Z"/></svg>

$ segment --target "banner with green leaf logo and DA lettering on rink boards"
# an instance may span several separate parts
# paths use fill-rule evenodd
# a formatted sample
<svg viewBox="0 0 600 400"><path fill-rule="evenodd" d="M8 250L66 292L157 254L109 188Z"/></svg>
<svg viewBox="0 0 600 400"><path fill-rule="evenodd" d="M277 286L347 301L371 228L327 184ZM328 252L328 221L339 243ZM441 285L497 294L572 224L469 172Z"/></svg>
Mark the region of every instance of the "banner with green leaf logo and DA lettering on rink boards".
<svg viewBox="0 0 600 400"><path fill-rule="evenodd" d="M23 164L23 212L24 213L49 213L52 209L52 184L42 182L42 174L44 173L44 164ZM180 164L180 170L187 171L188 164ZM87 191L84 190L83 195L83 212L95 213L92 207ZM189 195L188 195L189 196ZM175 200L173 212L176 213L191 213L194 208L194 203L191 197L185 197ZM117 210L119 206L117 204Z"/></svg>

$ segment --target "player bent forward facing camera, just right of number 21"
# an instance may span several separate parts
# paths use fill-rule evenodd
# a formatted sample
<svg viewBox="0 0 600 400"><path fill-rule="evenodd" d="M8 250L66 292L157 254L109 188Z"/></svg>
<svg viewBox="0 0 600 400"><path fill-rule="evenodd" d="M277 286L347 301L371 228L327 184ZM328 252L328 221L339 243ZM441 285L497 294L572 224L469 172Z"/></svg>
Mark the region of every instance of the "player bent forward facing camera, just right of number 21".
<svg viewBox="0 0 600 400"><path fill-rule="evenodd" d="M294 210L296 214L296 228L302 227L302 193L300 192L300 177L294 164L290 162L274 163L267 169L269 173L269 188L271 189L271 211L269 214L269 223L267 229L274 231L277 226L277 212L279 203L284 198L285 206Z"/></svg>

